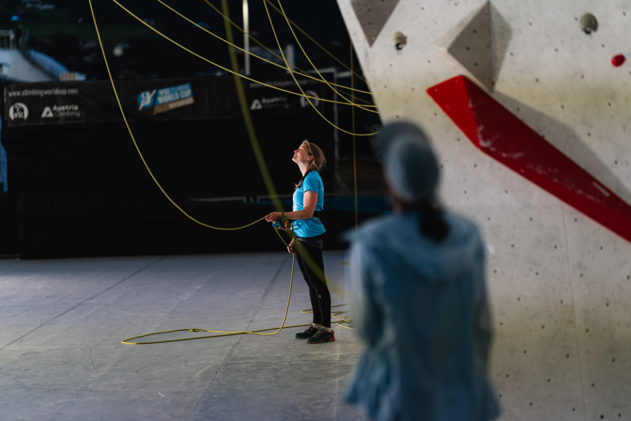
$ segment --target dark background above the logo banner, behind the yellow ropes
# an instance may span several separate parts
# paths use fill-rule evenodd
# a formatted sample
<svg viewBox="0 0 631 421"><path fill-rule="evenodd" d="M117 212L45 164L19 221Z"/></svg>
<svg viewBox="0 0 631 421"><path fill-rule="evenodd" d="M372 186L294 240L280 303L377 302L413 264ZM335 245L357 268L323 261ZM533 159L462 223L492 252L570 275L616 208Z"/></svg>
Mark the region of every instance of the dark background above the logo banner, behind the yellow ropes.
<svg viewBox="0 0 631 421"><path fill-rule="evenodd" d="M209 1L221 10L220 1ZM54 6L54 9L38 10L35 4L40 3L50 4ZM171 78L214 75L218 71L222 73L211 64L191 56L162 39L112 1L93 0L92 3L115 78ZM225 38L223 18L204 3L204 0L165 1L165 3L209 31ZM278 7L275 0L272 3ZM100 47L95 42L97 33L87 0L44 2L32 0L32 4L33 6L29 8L28 4L23 4L20 0L0 2L0 29L16 28L21 25L24 32L28 30L30 47L33 49L49 54L70 71L87 74L88 80L107 78ZM121 4L180 44L230 68L227 44L175 15L162 4L156 1L138 0L121 1ZM230 18L242 27L241 1L229 0L228 4ZM295 45L297 66L305 70L312 69L307 59L298 52L298 46L283 16L276 13L270 6L268 7L281 46ZM269 48L278 48L262 0L250 0L249 8L251 35ZM350 64L350 38L336 1L285 1L283 8L290 19L314 37L331 54L345 62L347 66ZM18 16L20 21L11 22L11 16ZM233 35L235 44L242 46L242 33L233 28ZM297 32L297 35L318 68L329 66L341 68L339 62L312 44L302 33ZM128 45L124 56L112 55L112 47L115 44ZM254 47L256 44L251 41L251 46ZM243 54L239 50L237 54L240 67L243 68ZM280 68L254 58L251 63L252 74L285 73ZM355 68L359 69L357 61L355 61ZM358 82L355 81L356 84ZM365 88L365 85L363 87Z"/></svg>

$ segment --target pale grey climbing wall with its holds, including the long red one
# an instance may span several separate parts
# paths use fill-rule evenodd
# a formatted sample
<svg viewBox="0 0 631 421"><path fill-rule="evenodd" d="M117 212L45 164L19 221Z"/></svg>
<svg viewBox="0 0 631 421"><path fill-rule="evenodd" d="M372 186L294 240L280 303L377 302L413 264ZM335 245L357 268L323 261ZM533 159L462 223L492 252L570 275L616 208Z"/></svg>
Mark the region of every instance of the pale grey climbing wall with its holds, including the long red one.
<svg viewBox="0 0 631 421"><path fill-rule="evenodd" d="M631 3L338 4L487 242L501 419L631 419Z"/></svg>

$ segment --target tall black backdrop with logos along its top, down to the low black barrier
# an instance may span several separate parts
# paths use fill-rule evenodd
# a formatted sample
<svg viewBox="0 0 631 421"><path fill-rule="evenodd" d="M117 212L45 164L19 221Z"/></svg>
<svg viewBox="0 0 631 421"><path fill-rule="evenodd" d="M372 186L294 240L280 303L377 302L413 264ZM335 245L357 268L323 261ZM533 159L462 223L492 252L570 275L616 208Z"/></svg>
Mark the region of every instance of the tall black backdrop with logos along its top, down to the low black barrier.
<svg viewBox="0 0 631 421"><path fill-rule="evenodd" d="M259 77L297 90L290 76ZM184 198L266 196L232 76L116 81L130 127L156 178ZM301 82L316 98L326 85ZM293 84L293 88L292 88ZM300 179L293 150L309 138L333 158L334 129L303 97L244 80L259 145L278 193ZM9 193L161 195L122 122L107 81L4 88ZM302 102L301 102L302 99ZM330 102L312 100L329 120ZM333 168L322 173L333 191Z"/></svg>

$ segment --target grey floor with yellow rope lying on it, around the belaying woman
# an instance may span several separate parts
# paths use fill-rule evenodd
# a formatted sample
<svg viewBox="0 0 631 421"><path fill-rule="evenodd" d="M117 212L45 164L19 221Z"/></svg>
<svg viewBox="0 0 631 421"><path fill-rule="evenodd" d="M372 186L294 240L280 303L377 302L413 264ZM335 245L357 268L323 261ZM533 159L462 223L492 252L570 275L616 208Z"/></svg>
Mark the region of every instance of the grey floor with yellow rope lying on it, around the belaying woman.
<svg viewBox="0 0 631 421"><path fill-rule="evenodd" d="M343 288L342 262L326 253L327 275ZM293 338L302 328L121 343L177 328L280 326L291 270L278 253L0 260L0 418L363 420L341 402L361 350L348 329L334 326L337 340L317 345ZM290 325L310 322L296 271Z"/></svg>

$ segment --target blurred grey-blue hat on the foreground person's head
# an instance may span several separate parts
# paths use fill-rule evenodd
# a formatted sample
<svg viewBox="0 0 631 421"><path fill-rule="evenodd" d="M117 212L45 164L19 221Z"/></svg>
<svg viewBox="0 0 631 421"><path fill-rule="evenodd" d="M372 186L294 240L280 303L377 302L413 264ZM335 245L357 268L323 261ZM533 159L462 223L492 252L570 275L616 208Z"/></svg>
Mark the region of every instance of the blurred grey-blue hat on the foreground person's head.
<svg viewBox="0 0 631 421"><path fill-rule="evenodd" d="M384 127L377 140L393 193L406 203L432 196L439 167L425 133L413 124L395 123Z"/></svg>

